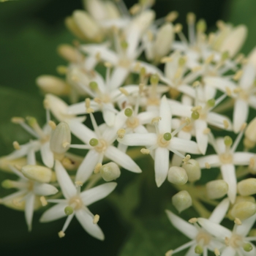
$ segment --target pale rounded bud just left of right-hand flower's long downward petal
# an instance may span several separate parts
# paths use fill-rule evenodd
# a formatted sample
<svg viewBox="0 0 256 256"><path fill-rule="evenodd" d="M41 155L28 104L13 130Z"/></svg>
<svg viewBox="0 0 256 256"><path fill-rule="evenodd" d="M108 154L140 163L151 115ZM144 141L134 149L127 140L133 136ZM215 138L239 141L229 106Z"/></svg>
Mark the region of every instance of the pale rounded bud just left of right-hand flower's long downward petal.
<svg viewBox="0 0 256 256"><path fill-rule="evenodd" d="M210 199L217 199L227 194L228 185L223 180L210 181L206 184L206 190Z"/></svg>

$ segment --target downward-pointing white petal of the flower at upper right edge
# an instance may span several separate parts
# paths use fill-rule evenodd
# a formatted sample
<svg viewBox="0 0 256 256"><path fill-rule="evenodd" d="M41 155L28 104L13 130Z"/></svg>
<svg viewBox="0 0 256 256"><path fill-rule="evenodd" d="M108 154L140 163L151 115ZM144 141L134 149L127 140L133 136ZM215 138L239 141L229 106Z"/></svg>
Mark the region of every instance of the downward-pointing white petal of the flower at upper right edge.
<svg viewBox="0 0 256 256"><path fill-rule="evenodd" d="M237 99L233 112L234 132L239 132L242 124L246 123L249 114L249 105L243 99Z"/></svg>

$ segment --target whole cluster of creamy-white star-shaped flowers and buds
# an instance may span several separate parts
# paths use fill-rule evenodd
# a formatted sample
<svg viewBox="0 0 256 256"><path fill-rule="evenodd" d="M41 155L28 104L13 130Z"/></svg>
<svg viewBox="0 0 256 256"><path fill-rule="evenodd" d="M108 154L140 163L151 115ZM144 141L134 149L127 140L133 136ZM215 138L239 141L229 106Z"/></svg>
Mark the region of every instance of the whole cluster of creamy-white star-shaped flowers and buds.
<svg viewBox="0 0 256 256"><path fill-rule="evenodd" d="M186 255L206 256L208 250L255 255L256 238L246 236L256 219L256 118L249 117L256 113L256 50L239 53L246 27L218 21L217 31L206 34L206 22L189 13L186 37L176 23L178 12L156 20L151 0L129 10L123 1L84 4L86 10L65 20L77 39L58 48L68 61L58 67L64 78L37 78L45 93L45 126L34 117L12 118L34 139L24 145L15 141L15 151L1 157L1 169L19 178L2 182L18 192L1 198L1 204L24 210L31 230L34 210L56 203L40 221L67 216L60 237L75 216L86 232L103 240L99 215L88 206L115 189L119 167L145 171L127 154L139 147L136 158L154 159L156 186L167 179L178 190L172 197L177 211L193 206L200 215L188 223L166 211L192 239L166 255L187 247ZM230 110L233 116L225 116ZM84 124L86 118L93 129ZM215 138L219 131L224 137ZM80 143L72 143L72 136ZM87 153L77 156L72 148ZM211 148L216 154L209 154ZM198 189L201 170L216 167L221 175ZM67 170L76 170L75 176ZM205 204L216 208L209 214ZM220 225L225 217L235 222L233 231Z"/></svg>

